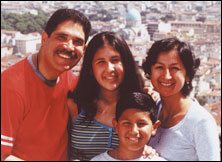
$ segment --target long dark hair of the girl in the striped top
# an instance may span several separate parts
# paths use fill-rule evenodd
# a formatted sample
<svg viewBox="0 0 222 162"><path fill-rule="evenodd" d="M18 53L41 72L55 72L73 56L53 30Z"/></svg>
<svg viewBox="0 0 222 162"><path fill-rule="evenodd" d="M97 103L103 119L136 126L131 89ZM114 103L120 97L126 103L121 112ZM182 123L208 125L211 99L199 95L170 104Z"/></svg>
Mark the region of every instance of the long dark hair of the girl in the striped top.
<svg viewBox="0 0 222 162"><path fill-rule="evenodd" d="M95 53L102 47L113 47L121 57L124 68L124 79L120 85L120 96L143 89L144 83L138 72L133 55L123 38L114 32L102 32L95 35L89 42L84 54L82 69L76 88L69 94L78 108L84 109L88 119L93 120L97 112L96 99L99 97L100 85L96 81L92 61Z"/></svg>

